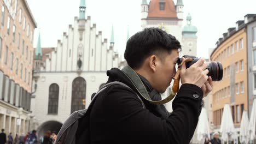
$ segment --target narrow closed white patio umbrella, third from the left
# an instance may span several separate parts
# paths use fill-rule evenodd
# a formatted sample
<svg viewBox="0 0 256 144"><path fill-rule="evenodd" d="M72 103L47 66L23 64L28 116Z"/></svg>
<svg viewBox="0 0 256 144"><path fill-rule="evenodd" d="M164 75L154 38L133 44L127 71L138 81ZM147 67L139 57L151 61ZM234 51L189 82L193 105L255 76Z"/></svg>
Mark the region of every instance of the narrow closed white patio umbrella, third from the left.
<svg viewBox="0 0 256 144"><path fill-rule="evenodd" d="M247 111L243 111L241 125L240 125L240 142L248 143L249 136L247 135L249 130L249 119Z"/></svg>

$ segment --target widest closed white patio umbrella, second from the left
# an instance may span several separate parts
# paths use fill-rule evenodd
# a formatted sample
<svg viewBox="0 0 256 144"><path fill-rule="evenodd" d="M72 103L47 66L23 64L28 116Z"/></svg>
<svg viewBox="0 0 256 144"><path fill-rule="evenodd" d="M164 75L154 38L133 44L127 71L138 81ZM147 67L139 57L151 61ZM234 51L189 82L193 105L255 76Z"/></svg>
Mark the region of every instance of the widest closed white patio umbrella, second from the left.
<svg viewBox="0 0 256 144"><path fill-rule="evenodd" d="M235 140L237 137L229 104L224 105L220 133L222 133L222 140L227 142Z"/></svg>

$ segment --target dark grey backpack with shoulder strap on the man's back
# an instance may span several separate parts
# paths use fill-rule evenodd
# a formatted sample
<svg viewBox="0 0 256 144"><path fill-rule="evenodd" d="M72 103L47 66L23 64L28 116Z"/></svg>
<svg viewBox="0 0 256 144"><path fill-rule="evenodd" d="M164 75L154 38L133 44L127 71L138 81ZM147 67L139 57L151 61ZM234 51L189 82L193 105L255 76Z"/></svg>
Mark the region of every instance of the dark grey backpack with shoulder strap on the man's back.
<svg viewBox="0 0 256 144"><path fill-rule="evenodd" d="M101 93L104 89L108 88L112 85L121 85L127 88L129 86L125 85L122 82L114 81L107 83L104 85L95 95L94 98L91 100L91 103L88 109L75 111L68 117L68 119L63 123L59 134L57 135L57 139L55 140L55 144L78 144L78 143L90 143L90 132L89 132L89 125L90 125L90 112L91 107L94 105L95 100L99 93ZM131 89L131 88L130 88ZM134 92L136 93L136 92ZM143 108L145 105L142 99L136 93L138 99L141 101Z"/></svg>

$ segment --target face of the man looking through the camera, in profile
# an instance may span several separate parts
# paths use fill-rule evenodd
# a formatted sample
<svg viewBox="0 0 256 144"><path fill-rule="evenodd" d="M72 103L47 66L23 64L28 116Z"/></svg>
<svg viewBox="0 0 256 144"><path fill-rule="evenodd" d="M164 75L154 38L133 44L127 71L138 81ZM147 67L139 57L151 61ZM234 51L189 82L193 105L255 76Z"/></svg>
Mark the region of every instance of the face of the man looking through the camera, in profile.
<svg viewBox="0 0 256 144"><path fill-rule="evenodd" d="M167 53L167 52L166 52ZM164 93L166 88L170 86L172 77L176 74L175 65L179 56L178 50L172 50L171 53L167 53L165 61L156 62L155 73L152 75L152 86L156 91Z"/></svg>

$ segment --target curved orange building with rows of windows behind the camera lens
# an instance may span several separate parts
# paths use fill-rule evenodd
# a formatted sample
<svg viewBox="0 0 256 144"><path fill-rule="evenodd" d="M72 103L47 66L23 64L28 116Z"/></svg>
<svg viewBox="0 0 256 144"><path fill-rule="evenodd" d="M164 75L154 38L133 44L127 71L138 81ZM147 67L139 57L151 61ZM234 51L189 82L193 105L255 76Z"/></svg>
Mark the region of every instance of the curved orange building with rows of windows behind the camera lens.
<svg viewBox="0 0 256 144"><path fill-rule="evenodd" d="M249 97L249 37L248 26L255 21L254 15L246 15L245 20L237 21L236 27L228 29L223 37L217 41L216 49L211 54L212 61L223 64L223 80L213 83L213 124L219 129L222 121L222 113L225 104L230 105L235 128L238 131L241 123L242 112L251 112L251 100ZM252 31L252 30L251 30ZM250 41L253 45L252 40ZM252 47L251 47L252 48ZM252 49L251 49L252 52ZM249 55L251 55L251 52Z"/></svg>

